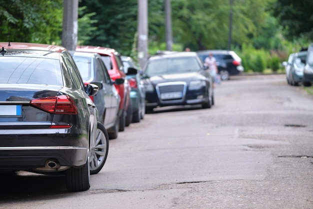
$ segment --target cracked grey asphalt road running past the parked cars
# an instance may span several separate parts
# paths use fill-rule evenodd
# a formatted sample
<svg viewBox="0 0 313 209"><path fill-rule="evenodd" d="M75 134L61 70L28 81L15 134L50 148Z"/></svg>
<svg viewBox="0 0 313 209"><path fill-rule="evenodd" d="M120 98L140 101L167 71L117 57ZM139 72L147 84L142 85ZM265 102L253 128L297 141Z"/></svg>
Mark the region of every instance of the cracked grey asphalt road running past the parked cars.
<svg viewBox="0 0 313 209"><path fill-rule="evenodd" d="M2 175L0 208L313 208L313 96L277 74L231 77L214 100L131 123L87 191Z"/></svg>

